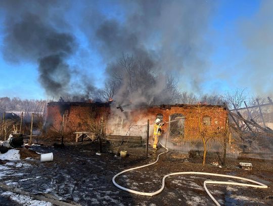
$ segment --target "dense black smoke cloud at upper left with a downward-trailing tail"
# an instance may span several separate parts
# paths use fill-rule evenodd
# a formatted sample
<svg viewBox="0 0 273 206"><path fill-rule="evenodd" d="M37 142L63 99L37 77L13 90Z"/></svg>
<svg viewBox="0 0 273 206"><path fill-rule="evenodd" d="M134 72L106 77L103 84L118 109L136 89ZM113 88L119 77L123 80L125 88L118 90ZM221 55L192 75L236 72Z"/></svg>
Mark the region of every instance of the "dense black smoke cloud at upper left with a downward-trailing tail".
<svg viewBox="0 0 273 206"><path fill-rule="evenodd" d="M12 63L38 62L40 84L46 93L62 95L71 78L66 61L76 48L73 34L59 31L51 24L47 14L53 9L50 2L28 2L34 9L22 1L2 3L7 8L4 58Z"/></svg>

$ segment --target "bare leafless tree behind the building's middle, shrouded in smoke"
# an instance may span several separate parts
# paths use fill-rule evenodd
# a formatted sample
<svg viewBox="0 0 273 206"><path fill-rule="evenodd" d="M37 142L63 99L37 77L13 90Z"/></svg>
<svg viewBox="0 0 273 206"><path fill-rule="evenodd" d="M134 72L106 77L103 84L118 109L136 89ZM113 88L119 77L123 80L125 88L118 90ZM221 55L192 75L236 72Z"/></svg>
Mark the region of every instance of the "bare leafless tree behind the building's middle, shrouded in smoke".
<svg viewBox="0 0 273 206"><path fill-rule="evenodd" d="M148 105L179 102L177 80L171 75L157 73L149 61L123 55L107 69L110 77L101 93L104 100L114 97L118 104Z"/></svg>

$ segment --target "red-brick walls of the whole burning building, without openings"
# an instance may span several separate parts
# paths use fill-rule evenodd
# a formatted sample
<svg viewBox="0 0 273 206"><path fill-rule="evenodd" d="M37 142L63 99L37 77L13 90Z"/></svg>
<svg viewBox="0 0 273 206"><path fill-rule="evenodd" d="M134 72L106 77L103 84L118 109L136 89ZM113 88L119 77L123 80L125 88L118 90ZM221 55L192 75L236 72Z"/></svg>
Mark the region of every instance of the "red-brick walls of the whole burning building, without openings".
<svg viewBox="0 0 273 206"><path fill-rule="evenodd" d="M73 132L82 132L87 130L86 123L90 116L100 117L101 115L108 116L108 129L107 132L113 132L113 124L117 123L118 115L127 116L122 121L122 127L128 125L147 125L147 119L150 119L150 128L153 127L157 114L163 115L163 121L169 121L169 116L172 114L183 114L185 116L184 138L199 138L199 118L201 121L201 130L205 131L207 137L218 137L223 134L226 125L227 113L222 106L212 105L162 105L153 107L139 107L126 114L126 111L121 112L119 109L110 109L108 103L58 103L51 102L48 104L47 120L45 128L51 131L61 132L63 114L65 114L65 134L70 135ZM203 117L210 117L210 126L203 124ZM163 126L163 132L167 132L169 124ZM141 129L142 130L142 129ZM109 132L110 131L110 132ZM145 132L142 131L142 134ZM139 136L138 134L135 134ZM134 134L131 134L134 136ZM71 136L71 140L73 137Z"/></svg>

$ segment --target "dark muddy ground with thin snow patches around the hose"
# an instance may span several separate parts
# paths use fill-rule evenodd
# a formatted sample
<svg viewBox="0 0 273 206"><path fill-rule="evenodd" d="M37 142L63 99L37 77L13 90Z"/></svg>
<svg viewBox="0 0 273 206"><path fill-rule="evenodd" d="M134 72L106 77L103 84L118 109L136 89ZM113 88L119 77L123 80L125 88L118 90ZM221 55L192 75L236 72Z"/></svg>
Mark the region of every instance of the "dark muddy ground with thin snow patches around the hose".
<svg viewBox="0 0 273 206"><path fill-rule="evenodd" d="M149 149L148 161L145 159L145 147L126 147L129 156L115 156L117 148L104 144L104 153L97 155L98 145L85 144L54 148L33 146L39 153L54 153L54 161L40 162L34 158L17 161L4 161L2 183L15 186L30 193L50 193L60 199L67 199L81 205L214 205L203 189L204 180L221 180L225 178L206 176L172 176L166 179L164 190L153 197L141 196L122 191L112 183L113 176L125 169L141 166L156 159L163 148ZM26 157L30 154L25 153ZM185 161L186 160L186 161ZM188 161L187 161L188 160ZM215 161L210 157L207 165L202 167L202 158L189 158L186 155L168 152L161 155L154 166L122 174L116 180L124 187L133 190L153 192L161 187L162 177L174 172L209 172L245 177L268 185L267 189L238 186L208 185L212 195L221 205L273 205L273 163L251 160L253 169L243 170L238 167L242 160L228 159L225 168L212 166ZM22 163L21 167L18 162ZM0 205L28 205L11 199L0 189Z"/></svg>

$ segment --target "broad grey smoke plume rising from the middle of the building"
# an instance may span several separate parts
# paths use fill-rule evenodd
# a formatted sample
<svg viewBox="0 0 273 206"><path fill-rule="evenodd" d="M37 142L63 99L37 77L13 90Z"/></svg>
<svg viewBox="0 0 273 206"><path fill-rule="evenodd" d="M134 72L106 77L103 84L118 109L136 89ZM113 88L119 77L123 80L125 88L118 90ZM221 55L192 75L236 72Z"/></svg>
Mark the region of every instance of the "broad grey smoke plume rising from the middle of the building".
<svg viewBox="0 0 273 206"><path fill-rule="evenodd" d="M208 58L200 54L209 54L203 33L214 5L203 1L120 1L119 6L124 19L100 16L95 35L89 35L108 63L107 80L118 82L117 104L177 103L177 86L200 91L208 66ZM171 75L179 77L169 81Z"/></svg>

